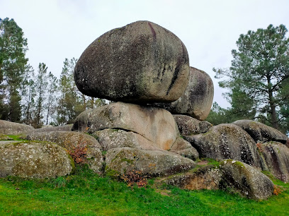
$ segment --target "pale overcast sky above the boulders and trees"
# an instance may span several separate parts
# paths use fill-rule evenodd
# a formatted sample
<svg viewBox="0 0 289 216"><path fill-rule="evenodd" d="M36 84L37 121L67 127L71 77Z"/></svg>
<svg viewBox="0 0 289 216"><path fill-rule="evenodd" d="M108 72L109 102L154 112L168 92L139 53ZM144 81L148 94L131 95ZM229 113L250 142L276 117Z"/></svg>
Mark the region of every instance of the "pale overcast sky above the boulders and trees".
<svg viewBox="0 0 289 216"><path fill-rule="evenodd" d="M212 68L228 68L231 50L248 30L283 24L289 28L288 0L0 0L0 18L13 18L28 39L29 64L45 63L58 78L65 58L79 58L97 37L137 20L174 32L188 49L190 66L207 72L222 97ZM287 34L288 37L288 34Z"/></svg>

